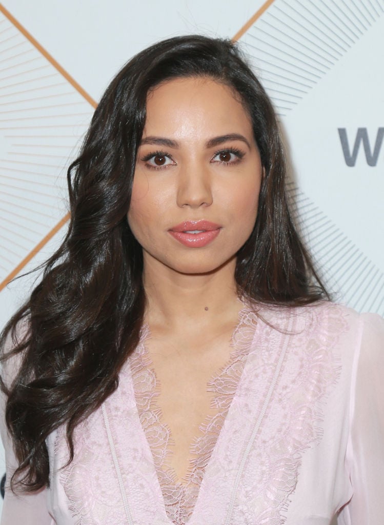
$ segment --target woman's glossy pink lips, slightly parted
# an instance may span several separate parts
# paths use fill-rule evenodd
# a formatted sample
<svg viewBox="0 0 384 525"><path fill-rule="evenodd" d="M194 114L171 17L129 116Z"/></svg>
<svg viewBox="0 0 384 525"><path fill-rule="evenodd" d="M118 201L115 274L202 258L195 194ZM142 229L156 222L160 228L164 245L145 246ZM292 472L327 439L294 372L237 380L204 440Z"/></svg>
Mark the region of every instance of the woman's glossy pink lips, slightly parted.
<svg viewBox="0 0 384 525"><path fill-rule="evenodd" d="M199 230L200 233L186 233ZM172 226L169 233L184 246L201 248L211 243L219 235L221 226L209 220L186 220L177 226Z"/></svg>

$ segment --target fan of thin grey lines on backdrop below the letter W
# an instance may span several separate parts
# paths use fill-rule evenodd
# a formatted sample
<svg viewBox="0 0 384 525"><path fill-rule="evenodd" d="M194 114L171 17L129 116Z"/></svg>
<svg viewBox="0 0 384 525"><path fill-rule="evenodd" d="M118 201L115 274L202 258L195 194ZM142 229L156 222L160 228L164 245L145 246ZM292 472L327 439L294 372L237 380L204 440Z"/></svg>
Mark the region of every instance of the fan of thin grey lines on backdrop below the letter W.
<svg viewBox="0 0 384 525"><path fill-rule="evenodd" d="M384 316L384 273L293 182L287 184L287 194L328 290L358 311Z"/></svg>

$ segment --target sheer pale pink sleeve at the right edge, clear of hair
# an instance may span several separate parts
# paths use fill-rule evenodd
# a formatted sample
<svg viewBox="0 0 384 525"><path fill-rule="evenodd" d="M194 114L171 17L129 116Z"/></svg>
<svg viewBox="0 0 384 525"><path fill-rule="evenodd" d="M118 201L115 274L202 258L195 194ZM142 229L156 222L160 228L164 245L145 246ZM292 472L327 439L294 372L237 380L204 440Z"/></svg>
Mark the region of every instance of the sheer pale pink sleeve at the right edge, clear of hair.
<svg viewBox="0 0 384 525"><path fill-rule="evenodd" d="M376 314L360 319L347 450L353 494L339 522L379 525L384 520L384 320Z"/></svg>

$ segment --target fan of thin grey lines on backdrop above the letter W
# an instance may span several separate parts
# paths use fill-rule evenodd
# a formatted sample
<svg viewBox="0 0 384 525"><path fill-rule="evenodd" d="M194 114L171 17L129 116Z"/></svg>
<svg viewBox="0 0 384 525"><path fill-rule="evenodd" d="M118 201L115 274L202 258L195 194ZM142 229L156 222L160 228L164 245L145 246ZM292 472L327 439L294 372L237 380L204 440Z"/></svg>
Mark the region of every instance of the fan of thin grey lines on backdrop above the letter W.
<svg viewBox="0 0 384 525"><path fill-rule="evenodd" d="M279 116L384 14L384 0L275 0L240 39Z"/></svg>

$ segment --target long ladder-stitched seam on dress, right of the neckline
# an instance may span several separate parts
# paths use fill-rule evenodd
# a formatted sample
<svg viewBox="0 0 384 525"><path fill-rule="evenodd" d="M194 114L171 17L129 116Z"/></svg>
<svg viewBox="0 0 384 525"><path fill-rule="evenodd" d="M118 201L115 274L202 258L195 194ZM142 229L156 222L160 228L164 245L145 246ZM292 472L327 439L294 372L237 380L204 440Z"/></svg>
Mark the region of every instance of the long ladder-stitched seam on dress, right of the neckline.
<svg viewBox="0 0 384 525"><path fill-rule="evenodd" d="M260 429L260 426L261 426L261 424L263 422L263 419L264 419L265 412L267 410L269 401L271 401L272 394L273 394L273 392L275 390L277 379L278 379L278 376L280 374L281 367L283 365L284 356L285 356L285 353L287 351L288 337L289 337L290 333L292 332L292 328L293 328L293 315L291 315L289 317L288 326L287 326L287 332L286 332L286 335L285 335L283 348L282 348L282 351L281 351L281 353L279 355L279 359L277 361L277 365L276 365L276 369L275 369L275 373L274 373L273 379L271 381L271 384L269 385L268 393L267 393L267 395L265 397L262 409L261 409L260 414L259 414L259 416L257 418L257 421L256 421L256 423L255 423L255 425L253 427L251 437L248 440L247 446L246 446L246 448L244 450L243 457L242 457L241 462L240 462L240 466L238 467L238 470L237 470L237 475L236 475L235 482L234 482L234 485L233 485L232 496L231 496L231 499L230 499L230 504L229 504L229 508L228 508L227 516L225 518L224 525L230 525L230 523L231 523L233 508L234 508L234 505L235 505L235 499L236 499L236 496L237 496L238 487L240 485L240 479L241 479L241 476L243 474L243 470L244 470L244 467L245 467L245 464L246 464L246 460L248 458L248 455L250 454L253 442L254 442L254 440L256 438L256 435L258 433L258 430Z"/></svg>

